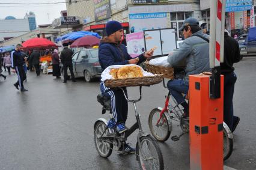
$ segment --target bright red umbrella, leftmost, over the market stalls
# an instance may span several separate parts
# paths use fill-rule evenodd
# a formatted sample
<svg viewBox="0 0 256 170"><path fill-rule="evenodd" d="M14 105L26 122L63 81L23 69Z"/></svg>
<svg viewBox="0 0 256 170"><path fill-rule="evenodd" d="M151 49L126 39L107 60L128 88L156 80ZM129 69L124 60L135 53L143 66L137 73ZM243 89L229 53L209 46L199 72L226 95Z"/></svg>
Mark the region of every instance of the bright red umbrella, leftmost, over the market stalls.
<svg viewBox="0 0 256 170"><path fill-rule="evenodd" d="M55 43L46 38L31 38L26 40L22 46L23 49L57 47Z"/></svg>

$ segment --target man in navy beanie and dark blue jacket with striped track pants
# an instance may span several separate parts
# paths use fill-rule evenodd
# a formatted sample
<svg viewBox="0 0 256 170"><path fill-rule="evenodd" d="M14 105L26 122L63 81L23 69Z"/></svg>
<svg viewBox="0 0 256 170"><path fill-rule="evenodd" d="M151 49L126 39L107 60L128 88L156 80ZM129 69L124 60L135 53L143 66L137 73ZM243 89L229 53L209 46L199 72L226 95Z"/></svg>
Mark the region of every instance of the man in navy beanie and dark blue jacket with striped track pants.
<svg viewBox="0 0 256 170"><path fill-rule="evenodd" d="M99 45L99 62L102 70L105 70L110 65L140 64L146 58L150 58L153 55L153 50L150 50L149 52L142 53L137 58L132 58L127 52L126 46L120 43L123 37L123 27L115 20L106 24L106 35L107 37L103 38ZM108 90L108 88L101 82L100 91L102 91L103 95L111 97L111 109L117 123L117 130L119 133L123 133L127 130L125 126L128 113L127 101L121 90L104 93L105 90ZM135 153L135 150L129 145L126 144L125 147L126 153Z"/></svg>

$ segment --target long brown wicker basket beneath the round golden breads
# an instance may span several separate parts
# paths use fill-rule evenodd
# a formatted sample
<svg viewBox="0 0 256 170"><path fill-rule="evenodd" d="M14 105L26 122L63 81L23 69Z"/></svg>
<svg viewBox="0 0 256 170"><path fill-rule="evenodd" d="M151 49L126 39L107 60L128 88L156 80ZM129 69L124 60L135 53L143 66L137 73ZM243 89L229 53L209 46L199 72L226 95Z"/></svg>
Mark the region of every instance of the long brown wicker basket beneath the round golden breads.
<svg viewBox="0 0 256 170"><path fill-rule="evenodd" d="M158 74L156 76L144 76L126 79L108 79L105 80L105 86L109 88L147 86L160 83L162 82L162 80L163 74Z"/></svg>

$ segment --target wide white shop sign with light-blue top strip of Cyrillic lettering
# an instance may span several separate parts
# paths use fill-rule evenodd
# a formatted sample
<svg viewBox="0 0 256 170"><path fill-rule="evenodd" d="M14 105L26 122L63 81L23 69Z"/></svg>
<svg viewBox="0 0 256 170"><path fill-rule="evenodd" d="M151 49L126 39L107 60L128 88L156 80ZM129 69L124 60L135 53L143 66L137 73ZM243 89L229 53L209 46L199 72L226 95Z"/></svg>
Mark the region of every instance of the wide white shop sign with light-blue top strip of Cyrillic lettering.
<svg viewBox="0 0 256 170"><path fill-rule="evenodd" d="M148 29L166 28L166 13L136 13L129 14L130 32L139 32Z"/></svg>

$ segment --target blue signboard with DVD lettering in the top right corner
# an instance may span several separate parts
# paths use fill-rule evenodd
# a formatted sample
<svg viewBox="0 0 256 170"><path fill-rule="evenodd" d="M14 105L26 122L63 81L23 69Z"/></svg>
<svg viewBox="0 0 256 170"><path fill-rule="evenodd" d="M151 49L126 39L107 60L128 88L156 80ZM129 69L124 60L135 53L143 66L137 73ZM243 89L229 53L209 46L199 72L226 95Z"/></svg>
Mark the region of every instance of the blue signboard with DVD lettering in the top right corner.
<svg viewBox="0 0 256 170"><path fill-rule="evenodd" d="M227 0L226 12L251 10L252 0Z"/></svg>

